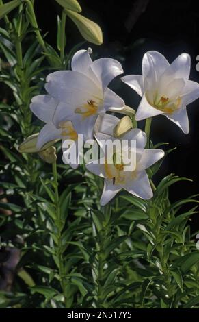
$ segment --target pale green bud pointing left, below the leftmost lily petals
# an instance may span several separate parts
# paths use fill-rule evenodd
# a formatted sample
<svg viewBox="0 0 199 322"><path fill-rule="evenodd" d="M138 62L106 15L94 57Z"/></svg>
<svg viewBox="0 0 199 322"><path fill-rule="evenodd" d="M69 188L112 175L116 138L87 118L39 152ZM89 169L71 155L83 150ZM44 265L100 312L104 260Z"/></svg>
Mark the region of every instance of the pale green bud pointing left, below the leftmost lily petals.
<svg viewBox="0 0 199 322"><path fill-rule="evenodd" d="M51 140L48 143L46 143L41 149L38 149L36 147L37 141L38 141L38 133L32 134L28 138L26 138L21 145L18 147L18 151L20 153L38 153L40 151L43 151L45 149L48 149L48 147L51 147L57 140Z"/></svg>

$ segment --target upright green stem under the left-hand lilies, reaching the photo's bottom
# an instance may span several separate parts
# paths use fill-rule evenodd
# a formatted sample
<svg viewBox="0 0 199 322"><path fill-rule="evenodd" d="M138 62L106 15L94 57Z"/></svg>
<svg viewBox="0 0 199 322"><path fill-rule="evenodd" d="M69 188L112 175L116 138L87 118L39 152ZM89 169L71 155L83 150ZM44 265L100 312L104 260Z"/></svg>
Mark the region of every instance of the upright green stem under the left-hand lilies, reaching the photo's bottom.
<svg viewBox="0 0 199 322"><path fill-rule="evenodd" d="M57 247L55 249L57 253L57 258L59 260L59 277L60 284L62 287L62 292L64 295L64 304L65 308L69 308L67 301L67 293L66 293L66 280L65 280L65 269L64 269L64 258L62 252L62 218L61 218L61 210L59 206L59 190L58 190L58 179L57 179L57 163L53 162L53 178L54 178L54 193L55 193L55 209L57 220L55 221L55 225L57 226Z"/></svg>

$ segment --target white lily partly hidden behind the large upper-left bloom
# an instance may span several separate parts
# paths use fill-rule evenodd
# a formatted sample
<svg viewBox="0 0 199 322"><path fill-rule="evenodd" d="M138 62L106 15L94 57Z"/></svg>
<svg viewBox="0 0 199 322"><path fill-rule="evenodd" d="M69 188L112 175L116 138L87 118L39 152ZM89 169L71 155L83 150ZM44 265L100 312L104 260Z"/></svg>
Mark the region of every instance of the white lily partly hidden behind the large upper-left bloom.
<svg viewBox="0 0 199 322"><path fill-rule="evenodd" d="M73 169L77 169L80 157L77 149L77 132L72 126L71 121L63 121L59 123L59 128L55 127L52 120L58 105L59 101L51 97L51 95L38 95L32 98L30 104L31 111L38 119L46 123L38 135L36 147L40 150L49 141L57 139L62 140L63 147L66 140L72 140L72 145L68 149L63 149L63 162L70 164ZM75 145L77 151L75 163L67 162L67 156L70 154L73 145Z"/></svg>

